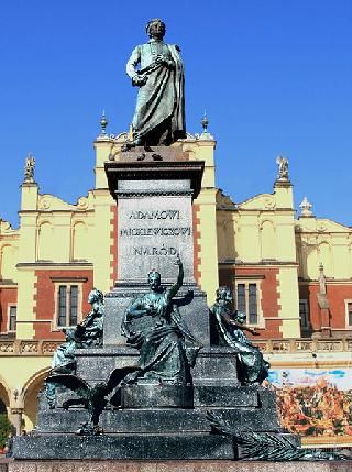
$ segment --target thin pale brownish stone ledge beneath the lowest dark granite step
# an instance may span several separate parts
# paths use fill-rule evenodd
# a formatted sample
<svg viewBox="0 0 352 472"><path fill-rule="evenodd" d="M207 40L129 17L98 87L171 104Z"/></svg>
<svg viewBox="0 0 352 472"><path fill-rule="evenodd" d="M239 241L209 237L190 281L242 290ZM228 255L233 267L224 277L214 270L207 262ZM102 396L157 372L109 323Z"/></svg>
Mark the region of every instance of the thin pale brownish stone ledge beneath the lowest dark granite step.
<svg viewBox="0 0 352 472"><path fill-rule="evenodd" d="M4 472L351 472L352 461L14 461Z"/></svg>

